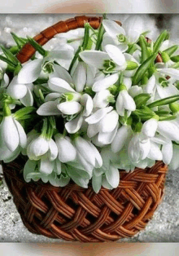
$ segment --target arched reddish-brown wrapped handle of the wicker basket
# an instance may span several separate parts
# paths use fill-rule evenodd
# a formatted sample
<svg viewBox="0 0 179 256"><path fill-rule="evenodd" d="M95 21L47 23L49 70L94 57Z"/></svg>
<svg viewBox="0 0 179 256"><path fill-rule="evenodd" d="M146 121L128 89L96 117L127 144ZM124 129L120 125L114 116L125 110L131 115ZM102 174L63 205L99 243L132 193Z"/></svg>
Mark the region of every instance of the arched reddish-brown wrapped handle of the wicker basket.
<svg viewBox="0 0 179 256"><path fill-rule="evenodd" d="M51 38L54 38L57 33L65 33L72 29L84 28L86 22L88 22L93 29L98 29L102 19L102 17L98 16L76 16L72 19L59 21L51 27L41 31L41 33L37 34L37 36L35 36L33 39L43 46ZM22 47L22 49L16 55L16 58L20 61L20 63L23 64L24 62L30 60L35 52L35 48L33 48L33 46L28 42Z"/></svg>

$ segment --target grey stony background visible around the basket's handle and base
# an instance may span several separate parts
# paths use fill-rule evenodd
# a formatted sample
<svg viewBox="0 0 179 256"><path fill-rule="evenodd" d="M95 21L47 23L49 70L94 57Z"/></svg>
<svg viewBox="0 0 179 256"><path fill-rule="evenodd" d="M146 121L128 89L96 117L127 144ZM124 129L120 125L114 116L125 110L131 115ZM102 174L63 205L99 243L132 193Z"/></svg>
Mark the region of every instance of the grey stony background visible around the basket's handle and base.
<svg viewBox="0 0 179 256"><path fill-rule="evenodd" d="M11 31L21 37L33 36L59 20L74 15L0 15L0 43L11 45ZM123 21L127 15L108 15ZM151 29L151 39L155 39L161 29L168 29L173 42L179 42L179 15L141 15L146 30ZM0 180L2 174L0 170ZM0 181L1 183L1 181ZM61 240L36 236L24 227L17 213L6 183L0 185L0 241L1 242L59 242ZM164 201L155 211L146 229L138 235L123 241L139 242L179 242L179 170L169 170Z"/></svg>

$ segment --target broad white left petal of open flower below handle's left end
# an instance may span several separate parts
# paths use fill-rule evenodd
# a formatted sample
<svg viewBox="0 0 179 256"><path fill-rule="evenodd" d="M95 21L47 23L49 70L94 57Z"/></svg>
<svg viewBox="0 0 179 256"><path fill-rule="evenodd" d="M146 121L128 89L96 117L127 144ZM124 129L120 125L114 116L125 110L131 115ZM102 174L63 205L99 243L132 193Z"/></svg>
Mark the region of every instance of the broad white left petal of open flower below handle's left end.
<svg viewBox="0 0 179 256"><path fill-rule="evenodd" d="M23 68L20 69L20 73L18 73L18 82L27 84L36 81L41 73L41 64L42 60L40 59L24 64Z"/></svg>

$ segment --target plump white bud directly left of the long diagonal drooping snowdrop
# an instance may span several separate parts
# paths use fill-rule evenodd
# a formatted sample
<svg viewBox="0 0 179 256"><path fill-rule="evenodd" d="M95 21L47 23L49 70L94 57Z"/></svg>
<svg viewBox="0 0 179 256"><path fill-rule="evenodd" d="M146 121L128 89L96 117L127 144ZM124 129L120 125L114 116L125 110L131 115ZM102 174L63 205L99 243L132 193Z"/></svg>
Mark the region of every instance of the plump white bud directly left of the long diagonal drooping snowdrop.
<svg viewBox="0 0 179 256"><path fill-rule="evenodd" d="M76 159L76 148L70 142L68 137L55 135L55 143L59 150L59 161L65 163Z"/></svg>

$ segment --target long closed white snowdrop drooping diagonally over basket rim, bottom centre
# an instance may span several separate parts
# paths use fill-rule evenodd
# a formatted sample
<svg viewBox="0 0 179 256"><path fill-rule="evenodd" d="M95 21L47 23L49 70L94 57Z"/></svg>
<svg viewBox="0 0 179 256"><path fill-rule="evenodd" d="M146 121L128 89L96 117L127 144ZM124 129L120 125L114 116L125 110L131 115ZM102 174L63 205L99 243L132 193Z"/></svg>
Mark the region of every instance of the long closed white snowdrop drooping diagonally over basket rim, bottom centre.
<svg viewBox="0 0 179 256"><path fill-rule="evenodd" d="M100 168L103 165L103 160L98 149L95 148L93 143L81 138L80 136L74 139L74 145L77 151L77 161L84 166L85 170L91 177L94 167Z"/></svg>

